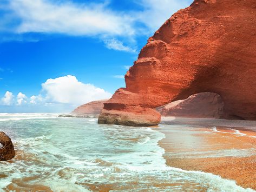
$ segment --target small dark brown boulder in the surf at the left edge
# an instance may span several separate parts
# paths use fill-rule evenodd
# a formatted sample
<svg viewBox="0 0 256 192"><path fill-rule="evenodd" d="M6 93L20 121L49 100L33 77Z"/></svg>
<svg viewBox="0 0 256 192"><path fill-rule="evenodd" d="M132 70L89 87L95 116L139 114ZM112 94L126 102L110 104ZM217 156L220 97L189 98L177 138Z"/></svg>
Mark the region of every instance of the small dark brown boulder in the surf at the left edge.
<svg viewBox="0 0 256 192"><path fill-rule="evenodd" d="M0 131L0 161L8 161L14 158L14 145L10 137Z"/></svg>

